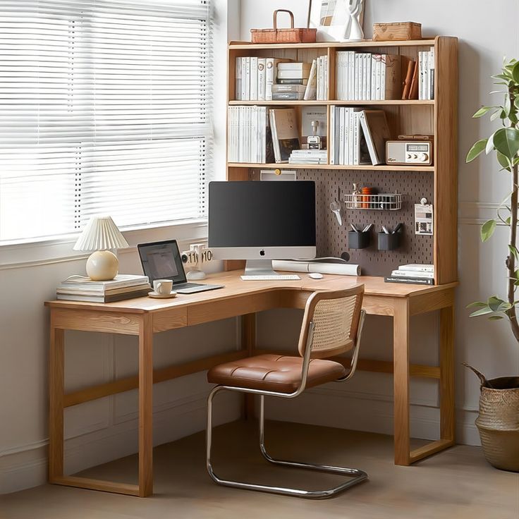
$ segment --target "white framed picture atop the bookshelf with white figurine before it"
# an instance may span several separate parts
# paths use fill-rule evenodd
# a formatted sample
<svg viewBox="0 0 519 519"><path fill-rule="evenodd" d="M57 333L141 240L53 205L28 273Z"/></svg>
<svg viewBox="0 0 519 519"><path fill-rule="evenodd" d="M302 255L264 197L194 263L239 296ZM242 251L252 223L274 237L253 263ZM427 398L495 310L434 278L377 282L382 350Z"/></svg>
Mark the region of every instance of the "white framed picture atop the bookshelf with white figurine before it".
<svg viewBox="0 0 519 519"><path fill-rule="evenodd" d="M317 28L318 42L364 39L365 0L310 0L308 26Z"/></svg>

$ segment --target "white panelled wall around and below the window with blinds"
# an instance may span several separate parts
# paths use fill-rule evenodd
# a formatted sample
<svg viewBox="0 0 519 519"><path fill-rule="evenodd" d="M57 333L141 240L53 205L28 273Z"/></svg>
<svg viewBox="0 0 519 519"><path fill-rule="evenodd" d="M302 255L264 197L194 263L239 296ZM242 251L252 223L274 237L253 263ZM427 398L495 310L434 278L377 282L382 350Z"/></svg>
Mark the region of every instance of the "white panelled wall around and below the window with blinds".
<svg viewBox="0 0 519 519"><path fill-rule="evenodd" d="M226 88L228 36L239 37L237 0L215 1L214 86ZM228 10L231 16L228 16ZM214 99L213 164L225 178L226 97ZM135 245L177 238L182 248L207 238L207 226L182 225L125 233ZM66 276L85 271L85 255L70 240L0 248L0 494L47 480L48 312ZM135 247L120 252L121 272L140 273ZM215 267L216 268L216 267ZM237 347L237 320L159 334L154 339L156 367L185 362ZM66 334L66 390L73 391L135 374L137 341L107 334ZM154 386L155 444L204 429L209 386L205 374L193 374ZM222 398L224 400L224 398ZM137 392L130 391L66 410L66 470L76 472L137 451ZM240 413L236 398L218 405L218 420ZM0 514L1 515L1 514Z"/></svg>

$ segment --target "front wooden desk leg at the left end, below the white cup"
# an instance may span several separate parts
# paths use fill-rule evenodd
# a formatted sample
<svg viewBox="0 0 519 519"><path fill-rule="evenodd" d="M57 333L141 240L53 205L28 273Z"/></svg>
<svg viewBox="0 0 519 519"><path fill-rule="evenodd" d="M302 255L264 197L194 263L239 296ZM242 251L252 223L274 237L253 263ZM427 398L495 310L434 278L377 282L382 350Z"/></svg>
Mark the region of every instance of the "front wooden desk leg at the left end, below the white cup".
<svg viewBox="0 0 519 519"><path fill-rule="evenodd" d="M153 321L142 316L139 333L139 496L153 494Z"/></svg>

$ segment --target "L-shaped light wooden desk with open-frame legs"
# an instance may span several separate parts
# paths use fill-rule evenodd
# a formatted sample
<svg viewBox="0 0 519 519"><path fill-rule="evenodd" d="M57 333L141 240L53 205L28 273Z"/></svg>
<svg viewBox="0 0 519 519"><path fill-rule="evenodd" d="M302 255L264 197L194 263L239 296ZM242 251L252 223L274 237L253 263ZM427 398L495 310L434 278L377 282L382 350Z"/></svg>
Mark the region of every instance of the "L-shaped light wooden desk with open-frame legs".
<svg viewBox="0 0 519 519"><path fill-rule="evenodd" d="M454 289L456 283L417 286L384 283L377 277L324 276L300 281L241 281L240 271L209 276L225 288L174 299L138 298L119 303L48 301L50 308L49 355L49 482L135 496L153 493L152 392L153 384L207 370L221 362L254 354L255 314L277 307L303 308L315 291L347 288L364 283L363 307L370 315L393 317L393 362L360 360L358 369L393 372L395 463L410 465L454 444ZM439 366L412 365L409 359L410 317L439 310ZM153 334L204 322L242 316L242 349L201 358L183 365L153 370ZM65 393L64 331L100 331L139 337L138 376ZM346 358L335 358L346 362ZM439 380L440 439L410 451L409 379ZM63 474L63 410L71 405L139 390L139 483L120 484Z"/></svg>

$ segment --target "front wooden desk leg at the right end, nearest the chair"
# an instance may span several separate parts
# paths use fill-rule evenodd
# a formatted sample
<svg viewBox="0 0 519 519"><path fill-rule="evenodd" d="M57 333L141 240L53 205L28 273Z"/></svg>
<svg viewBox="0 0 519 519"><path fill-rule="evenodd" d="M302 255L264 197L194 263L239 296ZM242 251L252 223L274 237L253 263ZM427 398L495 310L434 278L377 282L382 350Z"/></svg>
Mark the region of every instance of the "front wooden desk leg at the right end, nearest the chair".
<svg viewBox="0 0 519 519"><path fill-rule="evenodd" d="M395 298L393 315L395 465L410 465L409 325L407 298Z"/></svg>

